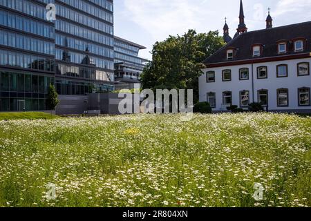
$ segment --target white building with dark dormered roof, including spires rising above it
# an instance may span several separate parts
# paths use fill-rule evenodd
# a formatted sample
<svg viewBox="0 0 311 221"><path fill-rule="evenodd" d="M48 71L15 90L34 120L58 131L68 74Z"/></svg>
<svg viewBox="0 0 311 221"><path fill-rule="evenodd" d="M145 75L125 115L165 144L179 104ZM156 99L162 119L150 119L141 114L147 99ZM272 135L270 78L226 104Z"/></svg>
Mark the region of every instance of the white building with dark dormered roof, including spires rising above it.
<svg viewBox="0 0 311 221"><path fill-rule="evenodd" d="M234 39L203 61L200 102L214 111L258 102L268 111L311 113L311 22L272 28L269 13L265 30L247 32L242 3L240 22Z"/></svg>

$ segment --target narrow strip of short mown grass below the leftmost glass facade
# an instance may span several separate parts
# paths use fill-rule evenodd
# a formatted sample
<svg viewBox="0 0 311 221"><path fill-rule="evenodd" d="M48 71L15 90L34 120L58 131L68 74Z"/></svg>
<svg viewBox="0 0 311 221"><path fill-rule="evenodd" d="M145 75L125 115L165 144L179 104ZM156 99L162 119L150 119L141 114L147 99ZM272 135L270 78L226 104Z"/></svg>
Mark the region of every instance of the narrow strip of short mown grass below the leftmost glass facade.
<svg viewBox="0 0 311 221"><path fill-rule="evenodd" d="M8 112L0 113L0 120L12 120L12 119L54 119L55 115L50 115L43 112Z"/></svg>

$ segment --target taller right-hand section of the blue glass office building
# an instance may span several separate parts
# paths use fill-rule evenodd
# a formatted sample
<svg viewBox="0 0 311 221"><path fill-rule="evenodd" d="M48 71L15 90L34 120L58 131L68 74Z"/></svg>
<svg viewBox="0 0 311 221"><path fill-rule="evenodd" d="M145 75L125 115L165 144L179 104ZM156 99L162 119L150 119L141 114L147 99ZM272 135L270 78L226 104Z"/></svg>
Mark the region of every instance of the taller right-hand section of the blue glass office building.
<svg viewBox="0 0 311 221"><path fill-rule="evenodd" d="M113 90L113 1L55 1L59 95Z"/></svg>

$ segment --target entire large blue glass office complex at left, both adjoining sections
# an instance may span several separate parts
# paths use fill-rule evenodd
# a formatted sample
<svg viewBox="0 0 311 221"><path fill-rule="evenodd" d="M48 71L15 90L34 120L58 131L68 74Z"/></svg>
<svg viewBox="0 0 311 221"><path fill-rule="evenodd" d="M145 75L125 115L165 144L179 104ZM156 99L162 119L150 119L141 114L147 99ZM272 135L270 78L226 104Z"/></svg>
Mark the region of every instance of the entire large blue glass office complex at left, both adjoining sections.
<svg viewBox="0 0 311 221"><path fill-rule="evenodd" d="M113 45L111 0L0 0L0 111L44 111L50 84L59 95L113 90Z"/></svg>

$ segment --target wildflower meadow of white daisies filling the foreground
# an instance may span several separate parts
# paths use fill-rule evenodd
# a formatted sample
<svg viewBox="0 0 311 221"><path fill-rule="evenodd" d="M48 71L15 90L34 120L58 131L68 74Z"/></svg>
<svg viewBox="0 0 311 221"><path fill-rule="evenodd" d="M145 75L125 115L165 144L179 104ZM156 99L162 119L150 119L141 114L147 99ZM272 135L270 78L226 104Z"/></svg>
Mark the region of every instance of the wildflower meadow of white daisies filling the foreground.
<svg viewBox="0 0 311 221"><path fill-rule="evenodd" d="M2 121L0 206L311 206L310 117L180 119Z"/></svg>

